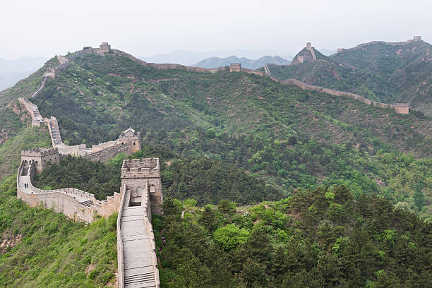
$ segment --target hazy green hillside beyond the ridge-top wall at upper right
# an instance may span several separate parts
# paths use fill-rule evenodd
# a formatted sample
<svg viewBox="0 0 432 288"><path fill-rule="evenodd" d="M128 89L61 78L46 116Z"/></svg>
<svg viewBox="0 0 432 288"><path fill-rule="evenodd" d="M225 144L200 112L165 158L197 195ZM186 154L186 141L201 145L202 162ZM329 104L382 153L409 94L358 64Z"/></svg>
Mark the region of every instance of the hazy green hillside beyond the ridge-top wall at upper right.
<svg viewBox="0 0 432 288"><path fill-rule="evenodd" d="M431 44L421 40L403 44L377 41L317 57L317 61L270 66L270 73L280 80L295 78L376 102L409 102L412 109L431 117L431 54Z"/></svg>

